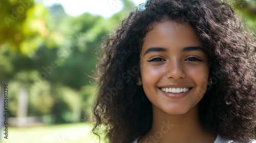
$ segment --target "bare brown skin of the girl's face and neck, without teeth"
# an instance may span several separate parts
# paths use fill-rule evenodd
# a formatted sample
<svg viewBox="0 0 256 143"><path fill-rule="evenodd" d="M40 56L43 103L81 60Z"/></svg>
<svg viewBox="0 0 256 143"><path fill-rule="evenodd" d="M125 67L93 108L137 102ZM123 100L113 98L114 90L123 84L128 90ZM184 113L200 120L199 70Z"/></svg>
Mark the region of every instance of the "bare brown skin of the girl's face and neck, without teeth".
<svg viewBox="0 0 256 143"><path fill-rule="evenodd" d="M138 142L214 142L217 135L199 122L198 103L207 89L209 64L193 28L172 20L153 23L140 57L139 84L152 103L153 125ZM170 93L161 88L189 90Z"/></svg>

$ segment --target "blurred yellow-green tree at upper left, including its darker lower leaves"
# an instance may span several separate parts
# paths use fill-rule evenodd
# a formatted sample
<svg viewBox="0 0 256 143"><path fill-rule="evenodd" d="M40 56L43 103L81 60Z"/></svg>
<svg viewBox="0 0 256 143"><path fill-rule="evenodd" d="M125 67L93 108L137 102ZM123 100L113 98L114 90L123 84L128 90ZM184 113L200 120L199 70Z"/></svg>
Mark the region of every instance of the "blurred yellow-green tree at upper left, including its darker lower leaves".
<svg viewBox="0 0 256 143"><path fill-rule="evenodd" d="M7 83L20 70L30 70L38 45L48 36L46 9L34 1L1 2L0 83Z"/></svg>

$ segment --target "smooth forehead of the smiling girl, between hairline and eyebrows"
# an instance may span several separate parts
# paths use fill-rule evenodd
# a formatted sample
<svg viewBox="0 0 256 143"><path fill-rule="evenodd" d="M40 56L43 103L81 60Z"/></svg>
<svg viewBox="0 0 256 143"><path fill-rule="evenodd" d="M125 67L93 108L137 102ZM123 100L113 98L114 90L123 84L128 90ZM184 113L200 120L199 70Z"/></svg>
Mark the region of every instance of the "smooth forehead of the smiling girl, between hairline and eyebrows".
<svg viewBox="0 0 256 143"><path fill-rule="evenodd" d="M165 20L162 22L154 22L151 30L143 39L142 51L146 47L186 47L186 46L202 46L197 33L192 26L175 22L173 20Z"/></svg>

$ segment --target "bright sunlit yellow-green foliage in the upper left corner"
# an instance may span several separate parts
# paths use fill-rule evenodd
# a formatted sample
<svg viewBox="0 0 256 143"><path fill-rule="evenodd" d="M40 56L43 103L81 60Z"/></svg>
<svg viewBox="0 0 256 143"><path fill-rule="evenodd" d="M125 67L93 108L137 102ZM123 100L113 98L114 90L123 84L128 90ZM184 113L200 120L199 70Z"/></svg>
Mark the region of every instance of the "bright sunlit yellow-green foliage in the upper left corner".
<svg viewBox="0 0 256 143"><path fill-rule="evenodd" d="M1 3L0 21L1 44L7 44L9 49L32 56L38 45L47 36L45 28L46 9L34 1L3 1ZM2 17L1 16L1 17Z"/></svg>

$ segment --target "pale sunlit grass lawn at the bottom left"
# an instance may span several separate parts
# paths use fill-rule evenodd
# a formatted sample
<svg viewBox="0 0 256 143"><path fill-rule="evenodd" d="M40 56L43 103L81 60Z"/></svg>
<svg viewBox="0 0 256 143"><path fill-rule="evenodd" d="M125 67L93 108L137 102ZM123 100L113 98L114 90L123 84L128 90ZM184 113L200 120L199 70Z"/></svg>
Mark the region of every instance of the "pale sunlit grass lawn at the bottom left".
<svg viewBox="0 0 256 143"><path fill-rule="evenodd" d="M0 142L3 143L96 143L97 137L92 135L90 124L62 124L34 127L9 127L8 139L1 131Z"/></svg>

